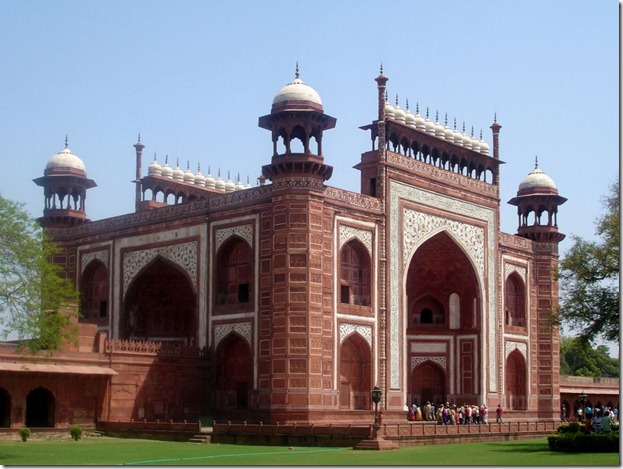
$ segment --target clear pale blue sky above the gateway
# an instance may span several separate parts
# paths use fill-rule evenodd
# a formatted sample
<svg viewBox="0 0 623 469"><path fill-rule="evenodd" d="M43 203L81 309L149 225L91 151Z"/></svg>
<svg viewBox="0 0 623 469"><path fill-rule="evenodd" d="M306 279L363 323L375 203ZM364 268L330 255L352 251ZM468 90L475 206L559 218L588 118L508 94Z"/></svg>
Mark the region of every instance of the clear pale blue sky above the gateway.
<svg viewBox="0 0 623 469"><path fill-rule="evenodd" d="M258 117L297 61L337 118L328 184L356 191L382 63L403 108L447 113L490 145L497 113L503 231L538 156L569 199L560 231L592 238L619 171L619 40L615 0L2 0L0 193L40 216L32 179L65 135L98 184L94 220L133 210L139 133L144 172L168 154L255 185L272 152Z"/></svg>

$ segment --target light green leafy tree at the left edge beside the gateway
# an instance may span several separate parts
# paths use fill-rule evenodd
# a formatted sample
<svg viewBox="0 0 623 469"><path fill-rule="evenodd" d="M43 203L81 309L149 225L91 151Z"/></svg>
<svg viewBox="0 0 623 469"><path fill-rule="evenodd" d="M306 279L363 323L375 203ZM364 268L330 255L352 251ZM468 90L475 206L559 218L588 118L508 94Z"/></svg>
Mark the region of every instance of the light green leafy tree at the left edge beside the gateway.
<svg viewBox="0 0 623 469"><path fill-rule="evenodd" d="M0 196L0 336L16 336L20 350L32 354L76 340L64 307L77 304L78 294L51 262L56 252L23 205Z"/></svg>

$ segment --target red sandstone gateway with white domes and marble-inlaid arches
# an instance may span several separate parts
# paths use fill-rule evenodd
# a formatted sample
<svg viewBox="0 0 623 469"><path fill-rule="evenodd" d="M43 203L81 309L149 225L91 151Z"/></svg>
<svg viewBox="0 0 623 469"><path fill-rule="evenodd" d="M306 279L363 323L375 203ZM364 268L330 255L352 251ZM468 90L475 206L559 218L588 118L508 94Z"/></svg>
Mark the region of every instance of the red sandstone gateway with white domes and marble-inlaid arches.
<svg viewBox="0 0 623 469"><path fill-rule="evenodd" d="M298 67L259 118L270 140L255 187L168 158L144 174L139 137L135 212L91 221L95 182L66 143L35 182L55 262L81 293L80 343L36 363L0 350L2 426L361 424L374 386L385 424L427 401L558 420L548 326L566 199L535 165L509 201L517 234L500 232L497 119L490 147L390 104L388 78L376 82L360 192L327 185L347 155L325 159L336 119ZM602 391L618 405L618 388Z"/></svg>

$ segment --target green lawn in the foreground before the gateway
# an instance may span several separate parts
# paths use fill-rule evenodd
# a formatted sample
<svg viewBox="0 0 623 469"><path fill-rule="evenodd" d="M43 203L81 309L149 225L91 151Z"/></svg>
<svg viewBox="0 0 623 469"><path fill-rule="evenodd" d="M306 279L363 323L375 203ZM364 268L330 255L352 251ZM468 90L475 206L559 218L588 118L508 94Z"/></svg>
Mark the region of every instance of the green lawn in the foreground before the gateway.
<svg viewBox="0 0 623 469"><path fill-rule="evenodd" d="M0 464L236 466L619 466L619 453L550 452L545 438L410 446L391 451L196 444L124 438L0 440Z"/></svg>

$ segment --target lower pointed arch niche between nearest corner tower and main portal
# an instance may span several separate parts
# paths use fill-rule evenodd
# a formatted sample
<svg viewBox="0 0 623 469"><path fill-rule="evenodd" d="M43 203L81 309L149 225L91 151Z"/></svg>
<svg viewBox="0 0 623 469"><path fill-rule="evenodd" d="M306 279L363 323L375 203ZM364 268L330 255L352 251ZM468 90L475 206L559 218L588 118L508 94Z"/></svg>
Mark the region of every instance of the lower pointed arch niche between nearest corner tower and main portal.
<svg viewBox="0 0 623 469"><path fill-rule="evenodd" d="M366 340L353 332L340 345L340 408L369 409L372 354Z"/></svg>

